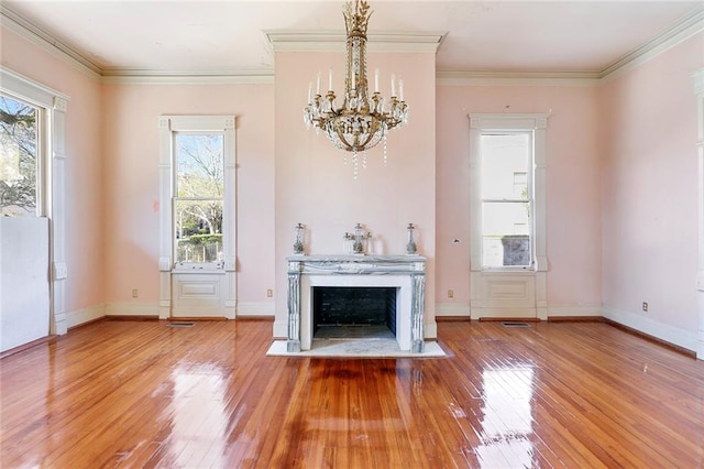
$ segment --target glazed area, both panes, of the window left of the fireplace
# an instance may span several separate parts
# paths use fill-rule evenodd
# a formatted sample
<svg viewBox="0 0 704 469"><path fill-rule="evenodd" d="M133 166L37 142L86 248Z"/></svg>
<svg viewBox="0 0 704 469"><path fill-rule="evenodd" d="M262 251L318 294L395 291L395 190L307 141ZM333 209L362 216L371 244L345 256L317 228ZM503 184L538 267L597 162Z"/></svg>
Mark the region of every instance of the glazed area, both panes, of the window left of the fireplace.
<svg viewBox="0 0 704 469"><path fill-rule="evenodd" d="M177 264L222 265L224 137L174 134L174 234Z"/></svg>

